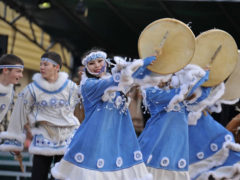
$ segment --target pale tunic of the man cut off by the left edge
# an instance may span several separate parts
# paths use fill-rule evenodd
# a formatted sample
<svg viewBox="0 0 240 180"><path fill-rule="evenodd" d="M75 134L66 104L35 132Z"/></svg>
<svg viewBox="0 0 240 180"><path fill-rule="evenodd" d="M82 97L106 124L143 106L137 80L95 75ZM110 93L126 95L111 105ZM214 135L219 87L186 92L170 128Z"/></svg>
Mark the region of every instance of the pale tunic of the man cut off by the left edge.
<svg viewBox="0 0 240 180"><path fill-rule="evenodd" d="M2 122L8 110L12 107L13 96L13 84L4 86L0 83L0 122Z"/></svg>

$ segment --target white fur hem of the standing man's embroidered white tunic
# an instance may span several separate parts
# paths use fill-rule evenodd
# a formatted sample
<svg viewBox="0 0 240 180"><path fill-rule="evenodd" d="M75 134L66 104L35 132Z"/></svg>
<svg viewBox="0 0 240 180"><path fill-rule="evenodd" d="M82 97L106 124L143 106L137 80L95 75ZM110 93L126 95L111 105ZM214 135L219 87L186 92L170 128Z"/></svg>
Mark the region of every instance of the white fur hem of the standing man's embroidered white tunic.
<svg viewBox="0 0 240 180"><path fill-rule="evenodd" d="M28 151L30 154L37 154L37 155L43 155L43 156L54 156L54 155L64 155L65 151L67 150L66 147L63 148L48 148L48 147L36 147L31 143L30 147L28 148Z"/></svg>

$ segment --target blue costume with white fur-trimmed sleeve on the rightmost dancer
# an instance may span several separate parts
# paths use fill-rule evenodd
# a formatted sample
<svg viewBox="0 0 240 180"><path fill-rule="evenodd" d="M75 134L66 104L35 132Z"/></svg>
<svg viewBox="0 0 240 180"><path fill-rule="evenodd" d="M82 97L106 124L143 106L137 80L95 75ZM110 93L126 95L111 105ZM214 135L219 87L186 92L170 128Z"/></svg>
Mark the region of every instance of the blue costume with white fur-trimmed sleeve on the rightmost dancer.
<svg viewBox="0 0 240 180"><path fill-rule="evenodd" d="M213 106L224 93L224 84L215 88L200 87L189 111L189 173L191 179L240 178L240 145L231 132L203 110ZM218 109L218 108L217 108Z"/></svg>

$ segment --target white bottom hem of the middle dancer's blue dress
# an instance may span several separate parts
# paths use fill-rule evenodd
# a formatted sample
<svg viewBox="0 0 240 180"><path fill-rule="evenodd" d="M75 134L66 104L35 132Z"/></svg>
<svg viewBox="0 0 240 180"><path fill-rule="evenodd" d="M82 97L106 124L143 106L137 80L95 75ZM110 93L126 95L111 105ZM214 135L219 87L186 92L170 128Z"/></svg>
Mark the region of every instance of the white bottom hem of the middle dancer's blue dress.
<svg viewBox="0 0 240 180"><path fill-rule="evenodd" d="M188 171L169 171L152 167L147 167L147 169L153 175L153 180L190 180Z"/></svg>

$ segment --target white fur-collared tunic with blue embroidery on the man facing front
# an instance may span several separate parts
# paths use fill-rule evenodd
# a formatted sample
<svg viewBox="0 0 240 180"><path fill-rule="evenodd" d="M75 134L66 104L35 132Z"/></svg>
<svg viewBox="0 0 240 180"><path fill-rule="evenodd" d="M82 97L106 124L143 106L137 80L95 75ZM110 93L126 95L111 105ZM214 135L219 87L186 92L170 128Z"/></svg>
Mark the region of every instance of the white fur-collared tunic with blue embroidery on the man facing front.
<svg viewBox="0 0 240 180"><path fill-rule="evenodd" d="M18 95L10 123L0 145L3 151L21 151L25 141L24 125L30 123L32 143L29 152L37 155L63 155L79 127L73 115L79 102L78 87L68 79L68 74L59 72L58 79L49 83L37 73ZM27 120L28 119L28 120Z"/></svg>

